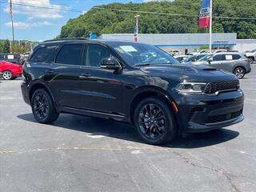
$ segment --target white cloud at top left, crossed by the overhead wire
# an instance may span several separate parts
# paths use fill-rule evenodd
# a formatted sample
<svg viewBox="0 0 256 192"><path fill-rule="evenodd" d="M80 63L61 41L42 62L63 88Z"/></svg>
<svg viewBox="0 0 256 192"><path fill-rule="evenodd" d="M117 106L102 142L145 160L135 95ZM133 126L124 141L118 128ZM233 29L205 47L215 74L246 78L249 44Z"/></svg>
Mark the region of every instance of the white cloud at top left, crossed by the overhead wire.
<svg viewBox="0 0 256 192"><path fill-rule="evenodd" d="M8 0L10 2L10 0ZM15 14L25 14L31 20L33 18L43 18L43 19L55 19L62 18L60 14L61 10L56 10L62 8L62 6L54 5L50 3L50 0L12 0L14 17ZM21 4L21 5L15 5ZM22 6L31 5L31 6ZM51 9L38 8L36 6L50 7ZM54 10L55 9L55 10ZM5 12L9 12L9 5L6 6Z"/></svg>

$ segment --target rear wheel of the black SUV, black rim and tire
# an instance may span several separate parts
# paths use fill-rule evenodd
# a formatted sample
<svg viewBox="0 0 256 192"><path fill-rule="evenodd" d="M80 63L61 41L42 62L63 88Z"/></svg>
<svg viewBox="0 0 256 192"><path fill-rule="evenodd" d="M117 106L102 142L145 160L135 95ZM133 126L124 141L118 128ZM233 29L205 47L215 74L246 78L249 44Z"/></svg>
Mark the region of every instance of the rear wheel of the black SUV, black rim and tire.
<svg viewBox="0 0 256 192"><path fill-rule="evenodd" d="M41 123L50 123L57 120L59 113L54 106L54 101L46 90L35 90L31 99L34 118Z"/></svg>

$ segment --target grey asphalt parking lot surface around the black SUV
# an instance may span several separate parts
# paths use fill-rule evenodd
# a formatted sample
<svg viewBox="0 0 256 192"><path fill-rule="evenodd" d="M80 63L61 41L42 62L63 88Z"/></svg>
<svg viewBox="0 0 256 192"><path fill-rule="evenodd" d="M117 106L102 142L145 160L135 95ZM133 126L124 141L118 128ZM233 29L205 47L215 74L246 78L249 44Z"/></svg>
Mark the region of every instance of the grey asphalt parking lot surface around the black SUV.
<svg viewBox="0 0 256 192"><path fill-rule="evenodd" d="M0 81L1 191L256 191L256 65L244 122L146 145L133 127L61 114L35 122L19 79Z"/></svg>

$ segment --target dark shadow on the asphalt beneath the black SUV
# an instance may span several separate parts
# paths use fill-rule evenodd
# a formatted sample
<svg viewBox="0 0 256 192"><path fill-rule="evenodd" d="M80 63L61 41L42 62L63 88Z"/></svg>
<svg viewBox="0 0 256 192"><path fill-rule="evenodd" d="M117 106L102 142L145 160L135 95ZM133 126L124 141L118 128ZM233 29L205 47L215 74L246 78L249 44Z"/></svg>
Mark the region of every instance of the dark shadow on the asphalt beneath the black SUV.
<svg viewBox="0 0 256 192"><path fill-rule="evenodd" d="M27 122L38 123L31 113L20 114L17 117ZM58 120L50 124L50 126L82 131L90 134L91 136L105 135L110 138L143 143L142 140L138 138L133 126L102 118L89 118L74 114L61 114ZM238 137L238 135L238 131L227 129L212 130L210 132L199 134L185 134L179 136L171 143L162 145L162 147L190 149L214 146L222 142L228 142Z"/></svg>

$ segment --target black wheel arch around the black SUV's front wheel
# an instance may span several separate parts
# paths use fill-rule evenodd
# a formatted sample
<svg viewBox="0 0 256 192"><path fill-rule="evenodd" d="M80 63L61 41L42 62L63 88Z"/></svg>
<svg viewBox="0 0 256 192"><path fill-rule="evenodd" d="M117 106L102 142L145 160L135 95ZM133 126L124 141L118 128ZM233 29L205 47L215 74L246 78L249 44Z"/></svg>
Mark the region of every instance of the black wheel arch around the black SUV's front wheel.
<svg viewBox="0 0 256 192"><path fill-rule="evenodd" d="M145 98L150 97L159 97L162 98L168 106L170 106L170 110L172 110L174 114L174 118L176 122L178 123L178 116L177 112L175 112L174 104L176 102L174 101L174 98L166 92L166 90L162 90L161 88L155 87L155 86L146 86L141 88L137 91L137 93L134 95L134 98L132 98L130 102L130 122L132 125L134 125L134 110L139 102L141 102Z"/></svg>

